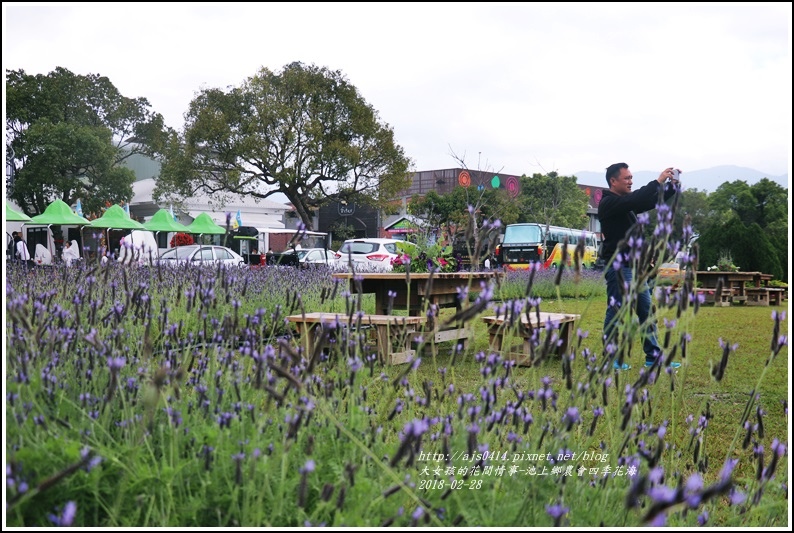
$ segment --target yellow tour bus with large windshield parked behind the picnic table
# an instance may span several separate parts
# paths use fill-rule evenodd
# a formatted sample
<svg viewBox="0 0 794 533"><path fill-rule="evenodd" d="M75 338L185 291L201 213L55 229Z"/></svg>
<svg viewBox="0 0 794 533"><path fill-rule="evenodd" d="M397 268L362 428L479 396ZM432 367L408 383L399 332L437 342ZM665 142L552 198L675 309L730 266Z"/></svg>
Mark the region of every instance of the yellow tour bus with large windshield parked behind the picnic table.
<svg viewBox="0 0 794 533"><path fill-rule="evenodd" d="M508 224L504 238L496 250L496 258L506 270L528 269L530 263L540 263L543 268L559 266L562 261L562 247L568 238L568 258L566 265L573 266L574 252L579 241L584 238L582 266L593 268L598 259L601 244L599 235L592 231L563 228L545 224L524 223Z"/></svg>

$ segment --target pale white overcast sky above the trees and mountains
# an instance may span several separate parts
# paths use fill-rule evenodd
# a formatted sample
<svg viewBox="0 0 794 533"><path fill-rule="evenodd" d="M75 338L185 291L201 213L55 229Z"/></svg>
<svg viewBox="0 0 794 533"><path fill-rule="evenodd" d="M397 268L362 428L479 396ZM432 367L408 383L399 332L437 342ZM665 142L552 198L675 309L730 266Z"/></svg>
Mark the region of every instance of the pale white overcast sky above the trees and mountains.
<svg viewBox="0 0 794 533"><path fill-rule="evenodd" d="M791 17L790 3L4 2L3 67L107 76L181 129L199 89L301 61L341 71L414 170L457 167L454 153L519 175L618 161L781 175Z"/></svg>

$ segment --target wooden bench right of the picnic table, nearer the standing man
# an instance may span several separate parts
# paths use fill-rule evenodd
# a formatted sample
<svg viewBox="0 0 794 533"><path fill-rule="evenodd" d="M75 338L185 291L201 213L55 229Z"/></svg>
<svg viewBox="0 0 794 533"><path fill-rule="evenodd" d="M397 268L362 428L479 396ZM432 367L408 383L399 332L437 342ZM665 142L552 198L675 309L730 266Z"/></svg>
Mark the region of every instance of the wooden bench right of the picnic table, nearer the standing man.
<svg viewBox="0 0 794 533"><path fill-rule="evenodd" d="M515 348L506 350L504 354L506 359L517 361L519 365L528 366L532 364L530 359L530 342L534 331L546 329L547 324L551 323L552 326L559 324L559 339L561 342L554 347L553 351L558 355L563 355L568 351L568 347L573 345L573 329L574 322L580 318L580 315L572 315L567 313L530 313L527 318L526 313L521 314L521 323L510 327L507 317L503 315L497 316L484 316L482 320L488 327L488 334L490 336L491 350L501 351L505 337L515 334L523 340L523 345L520 351ZM538 320L538 318L540 320ZM531 326L531 327L530 327ZM552 332L548 331L547 335ZM540 345L543 341L540 341Z"/></svg>

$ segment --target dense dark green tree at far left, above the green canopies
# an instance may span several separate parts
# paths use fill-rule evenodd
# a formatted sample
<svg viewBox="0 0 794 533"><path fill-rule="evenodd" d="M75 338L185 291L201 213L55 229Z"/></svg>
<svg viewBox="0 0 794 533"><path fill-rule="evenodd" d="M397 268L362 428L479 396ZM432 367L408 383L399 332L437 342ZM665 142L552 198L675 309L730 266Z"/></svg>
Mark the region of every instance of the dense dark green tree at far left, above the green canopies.
<svg viewBox="0 0 794 533"><path fill-rule="evenodd" d="M55 199L81 199L86 212L129 201L135 176L122 162L161 150L163 131L145 98L122 96L104 76L6 71L8 195L28 215Z"/></svg>

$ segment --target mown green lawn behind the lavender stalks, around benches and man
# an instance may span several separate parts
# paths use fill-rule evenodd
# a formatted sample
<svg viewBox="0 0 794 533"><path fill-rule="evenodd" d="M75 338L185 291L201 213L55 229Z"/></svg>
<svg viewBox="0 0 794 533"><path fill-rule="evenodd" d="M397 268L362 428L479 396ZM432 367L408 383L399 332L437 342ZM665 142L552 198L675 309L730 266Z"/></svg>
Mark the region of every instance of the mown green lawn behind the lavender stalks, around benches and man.
<svg viewBox="0 0 794 533"><path fill-rule="evenodd" d="M364 301L364 308L371 302ZM548 312L580 314L577 328L587 332L581 340L577 353L590 350L600 353L602 350L600 334L603 330L605 298L602 295L587 298L560 298L547 299L541 303L541 308ZM678 322L678 328L686 331L691 336L686 359L679 355L676 361L683 366L675 373L672 379L662 378L663 385L652 388L650 393L653 411L643 410L643 423L658 425L665 422L670 431L667 436L667 445L671 452L664 463L669 472L693 472L700 469L707 482L716 482L720 477L720 466L728 458L741 458L735 475L737 479L745 480L752 484L758 468L757 463L747 459L752 455L753 448L757 445L768 443L770 438L786 441L788 435L787 399L789 395L789 365L788 349L783 347L777 357L767 367L770 358L770 343L773 338L774 321L772 312L786 311L788 301L780 307L713 307L701 306L696 315L686 314ZM450 310L442 311L442 316L449 316ZM675 318L675 310L659 310L660 329L664 319ZM425 382L438 382L441 367L448 368L448 381L454 381L455 386L461 390L477 390L482 385L482 365L475 360L478 352L488 353L488 334L484 323L476 319L475 340L470 350L464 357L458 355L452 364L452 343L439 344L436 349L426 347L422 364L411 377L411 383L418 386ZM788 322L781 322L779 335L788 335ZM660 332L660 342L664 339ZM735 353L729 357L724 377L717 381L712 377L712 368L719 365L723 355L720 339L727 345L738 345ZM644 363L642 344L639 338L634 340L631 349L631 358L628 360L633 368L620 372L617 376L621 387L632 383L640 377ZM766 368L765 368L766 367ZM402 367L386 369L389 377L395 377L403 372ZM572 363L574 388L578 383L586 381L586 361L577 356ZM763 375L763 378L762 378ZM548 377L553 387L562 387L565 383L561 359L550 358L538 367L518 367L512 370L511 378L518 388L537 387L541 378ZM381 390L378 381L373 380L375 391ZM387 385L383 386L386 389ZM740 422L748 406L751 394L757 396L753 403L749 421L756 424L758 421L757 410L760 408L763 424L763 435L756 431L748 443L745 443L747 432ZM613 391L611 398L616 401L617 391ZM574 402L572 402L573 404ZM560 395L558 410L564 411L566 398ZM650 409L648 410L650 411ZM690 427L695 427L702 415L708 414L708 431L702 433L702 440L696 445L690 432ZM689 423L687 417L691 415L693 422ZM592 417L591 417L592 418ZM619 417L607 419L599 424L593 438L588 442L615 442L615 435L619 434L621 420ZM610 426L610 424L612 426ZM675 430L677 428L677 430ZM699 465L699 467L698 467ZM785 483L785 482L784 482ZM785 494L785 485L778 484L779 494ZM778 501L777 506L785 508L786 502ZM780 510L780 509L778 509ZM737 523L735 519L721 516L719 512L712 515L712 521L722 521L723 524Z"/></svg>

